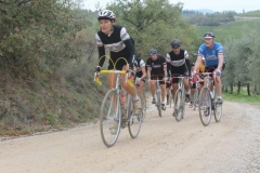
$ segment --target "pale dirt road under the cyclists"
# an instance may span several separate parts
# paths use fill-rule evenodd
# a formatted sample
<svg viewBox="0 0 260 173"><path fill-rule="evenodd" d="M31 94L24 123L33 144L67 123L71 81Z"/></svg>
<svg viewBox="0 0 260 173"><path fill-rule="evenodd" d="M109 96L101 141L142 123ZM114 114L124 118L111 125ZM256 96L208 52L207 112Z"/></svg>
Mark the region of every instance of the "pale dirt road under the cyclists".
<svg viewBox="0 0 260 173"><path fill-rule="evenodd" d="M223 114L204 127L198 111L177 122L150 106L139 137L123 129L112 148L99 124L2 141L0 173L260 172L260 107L225 102Z"/></svg>

